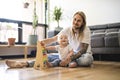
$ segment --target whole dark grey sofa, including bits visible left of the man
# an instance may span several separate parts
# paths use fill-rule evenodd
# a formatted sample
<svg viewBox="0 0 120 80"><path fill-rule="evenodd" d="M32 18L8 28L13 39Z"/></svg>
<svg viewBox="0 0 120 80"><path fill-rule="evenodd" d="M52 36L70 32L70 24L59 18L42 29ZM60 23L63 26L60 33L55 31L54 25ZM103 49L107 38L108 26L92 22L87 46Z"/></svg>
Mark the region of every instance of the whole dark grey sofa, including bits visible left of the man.
<svg viewBox="0 0 120 80"><path fill-rule="evenodd" d="M91 30L91 48L95 60L120 61L120 23L88 26ZM48 31L48 37L59 31ZM52 45L56 45L53 43ZM48 51L56 52L56 51Z"/></svg>

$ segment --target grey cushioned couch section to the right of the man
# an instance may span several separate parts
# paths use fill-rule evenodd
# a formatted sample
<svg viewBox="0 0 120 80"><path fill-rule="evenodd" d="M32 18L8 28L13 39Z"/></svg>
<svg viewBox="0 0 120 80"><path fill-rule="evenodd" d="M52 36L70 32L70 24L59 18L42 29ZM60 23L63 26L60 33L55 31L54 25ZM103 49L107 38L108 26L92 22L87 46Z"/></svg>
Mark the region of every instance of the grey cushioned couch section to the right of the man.
<svg viewBox="0 0 120 80"><path fill-rule="evenodd" d="M94 54L120 54L120 23L89 26Z"/></svg>

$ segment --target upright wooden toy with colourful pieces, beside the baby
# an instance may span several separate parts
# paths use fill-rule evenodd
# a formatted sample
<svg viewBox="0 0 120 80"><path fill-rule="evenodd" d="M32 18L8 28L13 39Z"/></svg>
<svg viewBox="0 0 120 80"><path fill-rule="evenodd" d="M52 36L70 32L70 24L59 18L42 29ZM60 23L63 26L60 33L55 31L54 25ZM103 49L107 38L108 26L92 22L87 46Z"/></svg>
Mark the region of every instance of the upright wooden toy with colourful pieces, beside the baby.
<svg viewBox="0 0 120 80"><path fill-rule="evenodd" d="M38 41L34 68L35 69L46 69L47 60L48 60L47 51L45 50L44 46Z"/></svg>

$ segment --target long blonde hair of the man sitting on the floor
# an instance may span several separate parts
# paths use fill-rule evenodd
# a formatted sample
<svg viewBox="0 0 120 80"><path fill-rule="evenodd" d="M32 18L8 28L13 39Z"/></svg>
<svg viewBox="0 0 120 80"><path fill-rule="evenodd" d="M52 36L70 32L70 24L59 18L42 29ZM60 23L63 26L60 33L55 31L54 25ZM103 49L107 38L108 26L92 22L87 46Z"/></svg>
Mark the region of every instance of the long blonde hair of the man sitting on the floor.
<svg viewBox="0 0 120 80"><path fill-rule="evenodd" d="M80 27L80 29L79 29L79 36L78 36L78 39L80 39L80 38L82 38L83 37L83 31L84 31L84 29L85 29L85 27L86 27L86 15L84 14L84 12L82 12L82 11L78 11L78 12L76 12L74 15L73 15L73 17L75 16L75 15L80 15L81 17L82 17L82 19L83 19L83 24L82 24L82 26ZM75 36L75 32L72 30L72 34Z"/></svg>

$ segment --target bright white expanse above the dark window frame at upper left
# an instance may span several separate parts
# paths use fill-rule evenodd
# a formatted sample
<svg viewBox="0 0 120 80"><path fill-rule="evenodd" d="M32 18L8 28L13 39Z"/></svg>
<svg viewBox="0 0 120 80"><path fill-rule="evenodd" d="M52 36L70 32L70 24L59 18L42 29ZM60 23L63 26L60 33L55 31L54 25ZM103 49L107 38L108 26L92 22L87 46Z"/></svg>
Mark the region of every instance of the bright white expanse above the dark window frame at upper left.
<svg viewBox="0 0 120 80"><path fill-rule="evenodd" d="M28 2L28 8L24 8L24 3ZM43 0L36 0L36 12L39 23L44 22ZM33 20L34 0L1 0L0 1L0 18L13 20L30 21Z"/></svg>

